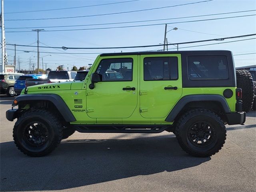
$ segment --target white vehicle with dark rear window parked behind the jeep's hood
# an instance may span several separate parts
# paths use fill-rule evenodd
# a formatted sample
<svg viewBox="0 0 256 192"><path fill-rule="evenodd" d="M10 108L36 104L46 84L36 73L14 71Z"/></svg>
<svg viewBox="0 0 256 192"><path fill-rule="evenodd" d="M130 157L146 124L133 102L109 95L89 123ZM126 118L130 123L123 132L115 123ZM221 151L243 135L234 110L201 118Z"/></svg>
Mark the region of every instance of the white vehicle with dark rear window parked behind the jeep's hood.
<svg viewBox="0 0 256 192"><path fill-rule="evenodd" d="M50 82L66 82L66 81L73 81L76 77L76 71L50 71L48 74L48 79Z"/></svg>

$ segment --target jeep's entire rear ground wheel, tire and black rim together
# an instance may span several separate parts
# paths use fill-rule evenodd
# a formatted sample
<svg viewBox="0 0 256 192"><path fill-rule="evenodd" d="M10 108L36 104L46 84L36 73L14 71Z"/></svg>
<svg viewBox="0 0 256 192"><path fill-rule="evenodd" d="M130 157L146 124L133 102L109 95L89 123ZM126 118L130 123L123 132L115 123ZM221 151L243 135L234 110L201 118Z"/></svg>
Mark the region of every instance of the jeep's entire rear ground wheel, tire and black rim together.
<svg viewBox="0 0 256 192"><path fill-rule="evenodd" d="M188 154L208 157L222 148L226 140L226 128L214 112L195 109L188 111L178 120L176 138Z"/></svg>

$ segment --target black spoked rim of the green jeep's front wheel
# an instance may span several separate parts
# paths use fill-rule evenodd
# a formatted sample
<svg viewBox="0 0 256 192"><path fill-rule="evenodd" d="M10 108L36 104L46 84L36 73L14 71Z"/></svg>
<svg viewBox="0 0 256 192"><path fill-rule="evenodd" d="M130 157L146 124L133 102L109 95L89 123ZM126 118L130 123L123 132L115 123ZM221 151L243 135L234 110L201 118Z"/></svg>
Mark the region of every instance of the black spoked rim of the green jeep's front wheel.
<svg viewBox="0 0 256 192"><path fill-rule="evenodd" d="M30 146L40 147L48 141L49 131L45 124L34 121L25 126L23 137Z"/></svg>

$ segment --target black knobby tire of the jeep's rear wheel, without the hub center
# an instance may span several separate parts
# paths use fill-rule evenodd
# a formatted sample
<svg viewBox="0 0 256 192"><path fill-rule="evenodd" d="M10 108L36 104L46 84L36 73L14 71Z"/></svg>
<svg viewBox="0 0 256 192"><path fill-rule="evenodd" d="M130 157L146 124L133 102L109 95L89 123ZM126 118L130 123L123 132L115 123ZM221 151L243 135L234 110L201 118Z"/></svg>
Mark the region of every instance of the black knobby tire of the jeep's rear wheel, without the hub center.
<svg viewBox="0 0 256 192"><path fill-rule="evenodd" d="M212 127L212 138L205 145L193 144L189 130L196 122L208 122ZM210 126L209 126L210 129ZM216 154L224 145L226 140L226 127L218 115L210 110L193 109L180 117L176 124L176 138L181 148L188 154L196 157L208 157Z"/></svg>

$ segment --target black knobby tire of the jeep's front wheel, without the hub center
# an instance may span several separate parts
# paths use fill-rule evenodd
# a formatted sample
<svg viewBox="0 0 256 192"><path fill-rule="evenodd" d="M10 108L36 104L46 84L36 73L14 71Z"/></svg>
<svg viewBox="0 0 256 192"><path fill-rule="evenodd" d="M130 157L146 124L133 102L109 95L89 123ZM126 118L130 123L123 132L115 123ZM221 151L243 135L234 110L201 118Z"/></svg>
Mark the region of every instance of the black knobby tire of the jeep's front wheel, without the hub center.
<svg viewBox="0 0 256 192"><path fill-rule="evenodd" d="M35 146L36 144L28 143L33 141L28 139L31 136L27 136L28 132L26 132L26 129L28 128L30 130L30 127L32 127L30 124L33 124L33 122L42 124L48 130L47 140L44 144L42 143L42 146ZM42 109L30 110L18 117L13 128L13 139L21 152L28 156L40 157L49 154L58 146L62 139L62 130L62 124L51 112Z"/></svg>

